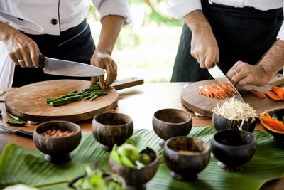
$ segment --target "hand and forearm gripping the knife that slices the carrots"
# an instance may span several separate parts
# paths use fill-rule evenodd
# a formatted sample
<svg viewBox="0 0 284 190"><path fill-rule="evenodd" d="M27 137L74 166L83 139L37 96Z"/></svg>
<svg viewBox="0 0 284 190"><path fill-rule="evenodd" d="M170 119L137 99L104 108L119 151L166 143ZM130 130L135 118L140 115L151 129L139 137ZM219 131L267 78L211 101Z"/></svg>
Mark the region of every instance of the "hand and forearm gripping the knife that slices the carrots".
<svg viewBox="0 0 284 190"><path fill-rule="evenodd" d="M200 68L212 68L219 62L219 48L211 26L201 10L193 11L185 17L192 31L191 55L200 63Z"/></svg>

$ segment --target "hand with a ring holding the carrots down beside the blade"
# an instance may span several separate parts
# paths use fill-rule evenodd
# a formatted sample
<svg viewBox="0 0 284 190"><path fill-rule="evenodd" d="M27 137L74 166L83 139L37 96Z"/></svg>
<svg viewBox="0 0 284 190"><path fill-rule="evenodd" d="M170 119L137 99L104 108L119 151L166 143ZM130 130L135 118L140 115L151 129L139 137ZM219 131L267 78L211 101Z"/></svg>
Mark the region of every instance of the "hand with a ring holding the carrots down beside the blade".
<svg viewBox="0 0 284 190"><path fill-rule="evenodd" d="M266 85L273 74L267 73L260 65L249 65L243 61L238 61L226 73L226 76L236 89L241 89L244 85Z"/></svg>

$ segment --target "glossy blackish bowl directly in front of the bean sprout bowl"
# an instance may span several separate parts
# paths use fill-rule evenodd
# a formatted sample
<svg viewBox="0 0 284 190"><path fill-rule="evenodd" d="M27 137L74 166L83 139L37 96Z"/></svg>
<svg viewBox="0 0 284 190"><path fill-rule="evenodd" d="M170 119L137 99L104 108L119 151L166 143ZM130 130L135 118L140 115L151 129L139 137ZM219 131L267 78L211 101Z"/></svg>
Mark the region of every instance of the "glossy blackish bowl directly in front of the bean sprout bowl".
<svg viewBox="0 0 284 190"><path fill-rule="evenodd" d="M211 142L218 166L226 171L242 171L243 165L256 152L256 137L246 130L221 130L214 134Z"/></svg>

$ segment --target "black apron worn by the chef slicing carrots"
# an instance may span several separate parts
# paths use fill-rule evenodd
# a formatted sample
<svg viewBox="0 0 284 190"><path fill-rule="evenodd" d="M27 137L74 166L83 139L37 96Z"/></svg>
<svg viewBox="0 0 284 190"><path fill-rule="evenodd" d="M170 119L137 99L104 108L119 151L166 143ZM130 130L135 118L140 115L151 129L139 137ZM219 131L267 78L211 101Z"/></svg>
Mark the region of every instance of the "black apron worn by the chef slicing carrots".
<svg viewBox="0 0 284 190"><path fill-rule="evenodd" d="M202 0L202 11L212 27L219 46L219 67L223 73L242 60L255 65L273 45L283 23L283 9L259 11L209 4ZM175 58L171 82L195 82L212 79L190 54L192 34L186 24Z"/></svg>

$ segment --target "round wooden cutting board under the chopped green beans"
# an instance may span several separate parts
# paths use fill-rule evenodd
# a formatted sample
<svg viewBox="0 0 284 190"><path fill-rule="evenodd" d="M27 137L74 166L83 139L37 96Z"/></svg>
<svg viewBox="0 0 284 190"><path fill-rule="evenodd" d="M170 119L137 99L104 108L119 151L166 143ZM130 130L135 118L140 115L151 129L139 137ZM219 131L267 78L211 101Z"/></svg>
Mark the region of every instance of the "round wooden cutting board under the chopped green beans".
<svg viewBox="0 0 284 190"><path fill-rule="evenodd" d="M100 112L113 110L119 101L117 91L109 87L107 95L101 95L94 101L79 100L67 105L53 107L45 102L46 97L59 97L89 88L87 80L48 80L32 83L13 90L5 99L6 110L23 120L44 122L48 120L80 121L87 120Z"/></svg>

